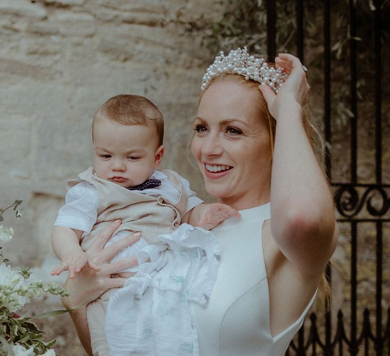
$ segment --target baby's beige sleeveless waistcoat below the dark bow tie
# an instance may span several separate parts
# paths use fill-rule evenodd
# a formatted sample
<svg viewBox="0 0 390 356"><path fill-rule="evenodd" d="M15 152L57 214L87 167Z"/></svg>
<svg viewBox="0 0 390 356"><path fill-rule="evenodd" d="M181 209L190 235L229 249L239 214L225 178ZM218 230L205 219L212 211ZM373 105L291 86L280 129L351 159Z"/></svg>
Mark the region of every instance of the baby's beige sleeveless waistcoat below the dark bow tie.
<svg viewBox="0 0 390 356"><path fill-rule="evenodd" d="M157 236L170 233L180 224L186 213L187 194L180 180L179 174L168 169L160 169L167 175L172 185L180 192L177 203L169 201L164 196L158 198L125 189L116 183L100 179L93 168L80 173L77 179L69 181L67 188L71 188L81 181L92 184L99 193L98 218L92 231L84 236L81 247L85 251L92 244L99 232L108 226L111 221L121 219L122 224L115 231L141 231L142 238L147 244L159 244Z"/></svg>

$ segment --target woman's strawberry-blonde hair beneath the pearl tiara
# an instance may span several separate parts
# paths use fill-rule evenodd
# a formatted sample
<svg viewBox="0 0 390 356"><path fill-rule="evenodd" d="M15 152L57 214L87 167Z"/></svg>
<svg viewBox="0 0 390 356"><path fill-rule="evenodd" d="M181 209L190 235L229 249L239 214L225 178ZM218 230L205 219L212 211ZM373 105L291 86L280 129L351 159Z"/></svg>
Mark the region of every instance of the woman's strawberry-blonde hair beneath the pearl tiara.
<svg viewBox="0 0 390 356"><path fill-rule="evenodd" d="M263 94L259 91L258 85L259 83L254 80L246 80L244 76L237 75L237 74L230 74L230 73L224 73L221 74L218 77L214 77L210 80L210 83L208 87L203 90L199 96L199 103L202 100L202 97L204 93L207 91L207 89L212 85L212 83L216 82L235 82L235 83L242 83L242 85L245 85L246 87L250 88L252 92L256 95L256 108L258 112L259 118L263 120L263 122L266 124L266 126L269 128L269 134L270 134L270 144L271 144L271 152L273 154L274 149L274 142L275 142L275 133L276 133L276 120L275 118L270 114L268 110L268 105L266 100L264 99ZM312 122L312 115L310 113L309 107L306 104L303 107L302 112L302 122L303 126L306 132L306 135L310 141L311 147L315 153L315 156L317 158L317 161L322 168L322 172L324 176L326 177L325 167L324 167L324 161L325 161L325 145L324 141L322 139L322 136L317 129L317 127ZM327 179L327 182L328 179ZM329 262L331 265L334 265L332 261ZM324 271L321 277L321 281L318 286L318 299L322 305L326 307L327 310L330 309L331 305L331 286L327 279L326 272Z"/></svg>

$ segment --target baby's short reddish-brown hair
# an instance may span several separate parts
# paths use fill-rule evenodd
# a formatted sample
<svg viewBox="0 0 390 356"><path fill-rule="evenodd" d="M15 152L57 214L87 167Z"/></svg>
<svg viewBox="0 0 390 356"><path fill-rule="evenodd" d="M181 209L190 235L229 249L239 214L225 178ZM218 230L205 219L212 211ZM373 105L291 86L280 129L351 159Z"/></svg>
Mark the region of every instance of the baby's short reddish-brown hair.
<svg viewBox="0 0 390 356"><path fill-rule="evenodd" d="M140 95L121 94L108 99L93 116L96 121L108 119L122 125L154 125L158 145L163 144L164 117L161 111L150 100Z"/></svg>

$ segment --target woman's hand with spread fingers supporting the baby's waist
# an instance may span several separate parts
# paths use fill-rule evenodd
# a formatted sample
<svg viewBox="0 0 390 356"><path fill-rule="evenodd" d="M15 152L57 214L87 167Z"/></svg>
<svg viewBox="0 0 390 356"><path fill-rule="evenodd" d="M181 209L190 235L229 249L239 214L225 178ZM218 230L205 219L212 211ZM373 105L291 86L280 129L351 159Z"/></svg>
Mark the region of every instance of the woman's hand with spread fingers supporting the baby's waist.
<svg viewBox="0 0 390 356"><path fill-rule="evenodd" d="M85 266L74 278L68 278L66 281L64 287L70 291L71 295L62 298L62 303L67 309L84 307L89 302L99 298L106 290L122 287L126 278L111 278L111 275L115 275L137 264L137 259L135 258L125 258L109 263L110 259L119 251L126 246L134 244L141 237L141 233L137 232L104 248L106 242L119 227L120 223L120 220L116 220L107 226L96 236L92 245L86 251L89 258L99 266L100 271L97 272Z"/></svg>

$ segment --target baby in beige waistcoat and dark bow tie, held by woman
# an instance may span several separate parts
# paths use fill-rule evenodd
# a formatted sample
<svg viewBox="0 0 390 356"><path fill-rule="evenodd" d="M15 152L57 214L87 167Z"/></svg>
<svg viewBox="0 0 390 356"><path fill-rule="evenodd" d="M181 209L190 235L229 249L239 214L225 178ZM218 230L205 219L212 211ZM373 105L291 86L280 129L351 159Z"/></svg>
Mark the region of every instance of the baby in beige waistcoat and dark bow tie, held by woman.
<svg viewBox="0 0 390 356"><path fill-rule="evenodd" d="M229 216L240 216L228 205L204 204L176 172L156 170L164 155L163 136L163 115L144 97L118 95L95 113L94 169L68 182L66 204L52 232L52 246L61 260L52 275L69 270L73 278L85 265L99 271L84 251L115 219L122 224L109 244L129 233L142 233L137 243L114 257L120 259L134 256L147 244L161 244L157 236L183 222L209 230ZM122 272L120 276L132 275Z"/></svg>

